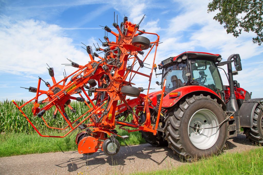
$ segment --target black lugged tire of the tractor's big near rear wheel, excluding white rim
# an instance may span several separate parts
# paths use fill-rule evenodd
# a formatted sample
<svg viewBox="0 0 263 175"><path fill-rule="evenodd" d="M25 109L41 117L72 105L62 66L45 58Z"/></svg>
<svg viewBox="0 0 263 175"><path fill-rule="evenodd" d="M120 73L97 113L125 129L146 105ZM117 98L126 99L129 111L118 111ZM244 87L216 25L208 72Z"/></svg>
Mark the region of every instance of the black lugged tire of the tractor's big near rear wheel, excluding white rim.
<svg viewBox="0 0 263 175"><path fill-rule="evenodd" d="M188 135L188 124L191 116L199 109L209 109L217 117L218 123L225 120L225 112L221 108L222 105L216 102L216 99L210 96L191 96L179 102L174 110L165 119L164 131L165 139L168 141L168 147L174 151L174 154L179 155L187 161L192 161L194 158L219 154L225 145L227 139L227 122L220 126L219 136L215 144L206 150L196 148L190 141Z"/></svg>

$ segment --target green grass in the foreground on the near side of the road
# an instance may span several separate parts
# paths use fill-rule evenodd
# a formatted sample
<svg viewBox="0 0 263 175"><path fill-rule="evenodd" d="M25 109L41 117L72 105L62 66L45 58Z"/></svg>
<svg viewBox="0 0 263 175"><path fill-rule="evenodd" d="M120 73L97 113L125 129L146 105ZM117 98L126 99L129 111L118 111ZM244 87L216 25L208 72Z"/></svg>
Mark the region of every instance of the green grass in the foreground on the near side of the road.
<svg viewBox="0 0 263 175"><path fill-rule="evenodd" d="M178 168L135 174L263 174L263 148L203 158Z"/></svg>

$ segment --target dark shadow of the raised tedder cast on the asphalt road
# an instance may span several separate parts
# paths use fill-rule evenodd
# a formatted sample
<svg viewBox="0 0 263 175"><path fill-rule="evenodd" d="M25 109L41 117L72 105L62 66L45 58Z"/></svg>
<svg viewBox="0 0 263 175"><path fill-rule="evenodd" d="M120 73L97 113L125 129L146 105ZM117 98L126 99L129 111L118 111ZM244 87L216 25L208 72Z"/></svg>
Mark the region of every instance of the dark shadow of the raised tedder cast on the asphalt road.
<svg viewBox="0 0 263 175"><path fill-rule="evenodd" d="M132 150L132 151L131 151ZM139 159L147 159L148 161L151 160L156 163L156 165L160 165L166 158L171 158L176 161L180 161L179 156L176 156L173 154L173 151L169 149L168 147L153 147L148 146L141 149L140 145L132 146L130 148L121 147L119 153L114 156L107 156L103 151L95 152L92 155L83 155L83 157L76 156L76 158L69 158L68 160L62 160L62 163L57 164L58 167L68 167L69 172L76 171L77 169L83 167L83 166L92 166L95 165L93 169L102 166L104 164L108 164L110 166L125 166L126 163L135 163L135 158L137 157ZM156 161L152 158L151 154L166 154L166 156L161 161ZM122 167L122 168L123 168Z"/></svg>

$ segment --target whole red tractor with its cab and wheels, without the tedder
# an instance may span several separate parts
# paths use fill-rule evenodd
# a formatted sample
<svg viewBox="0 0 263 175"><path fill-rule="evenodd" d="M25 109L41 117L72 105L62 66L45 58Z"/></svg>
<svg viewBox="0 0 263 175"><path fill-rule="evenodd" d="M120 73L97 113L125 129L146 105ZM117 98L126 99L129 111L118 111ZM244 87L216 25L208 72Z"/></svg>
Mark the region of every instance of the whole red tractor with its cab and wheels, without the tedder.
<svg viewBox="0 0 263 175"><path fill-rule="evenodd" d="M159 123L157 137L142 132L148 143L165 146L168 142L174 153L188 159L219 153L226 139L240 133L240 127L250 141L263 143L263 99L251 99L251 94L233 81L233 74L242 70L239 54L221 60L218 54L184 52L158 65L162 73L156 77L161 75L162 82L166 79L162 101L165 115ZM232 62L237 71L232 71ZM229 86L223 86L218 70L225 64ZM156 84L164 88L163 83ZM156 106L152 108L155 116L161 92L149 94Z"/></svg>

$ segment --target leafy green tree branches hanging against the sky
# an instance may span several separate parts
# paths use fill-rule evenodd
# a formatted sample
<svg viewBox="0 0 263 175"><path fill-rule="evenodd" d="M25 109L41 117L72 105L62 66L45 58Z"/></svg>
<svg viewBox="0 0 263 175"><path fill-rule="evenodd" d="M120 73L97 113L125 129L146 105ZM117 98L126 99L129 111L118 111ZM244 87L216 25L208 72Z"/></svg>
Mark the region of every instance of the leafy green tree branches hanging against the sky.
<svg viewBox="0 0 263 175"><path fill-rule="evenodd" d="M263 0L213 0L208 13L219 10L213 19L224 24L227 34L237 37L241 31L255 32L253 43L263 42Z"/></svg>

